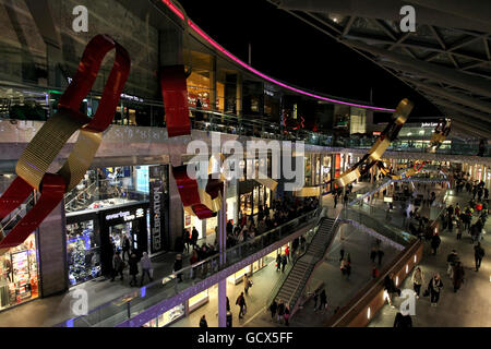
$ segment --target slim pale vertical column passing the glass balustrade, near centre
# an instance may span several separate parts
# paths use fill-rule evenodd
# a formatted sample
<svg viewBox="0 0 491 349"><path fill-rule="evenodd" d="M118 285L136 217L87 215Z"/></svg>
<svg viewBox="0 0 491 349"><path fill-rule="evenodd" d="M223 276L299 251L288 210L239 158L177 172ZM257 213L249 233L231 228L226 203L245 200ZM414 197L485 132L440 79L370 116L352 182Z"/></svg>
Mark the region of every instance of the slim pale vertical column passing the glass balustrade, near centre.
<svg viewBox="0 0 491 349"><path fill-rule="evenodd" d="M218 244L220 253L220 265L226 262L227 249L227 180L224 181L224 192L221 201L221 208L218 212ZM227 278L218 281L218 327L227 326Z"/></svg>

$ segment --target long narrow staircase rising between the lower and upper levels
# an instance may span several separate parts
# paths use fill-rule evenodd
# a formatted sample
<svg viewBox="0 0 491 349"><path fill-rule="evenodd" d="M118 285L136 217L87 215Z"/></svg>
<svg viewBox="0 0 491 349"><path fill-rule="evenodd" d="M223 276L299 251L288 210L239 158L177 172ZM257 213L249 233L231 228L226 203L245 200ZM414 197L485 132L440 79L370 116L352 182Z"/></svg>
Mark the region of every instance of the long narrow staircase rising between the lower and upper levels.
<svg viewBox="0 0 491 349"><path fill-rule="evenodd" d="M297 260L282 287L273 299L282 300L290 306L290 316L298 310L299 300L316 266L322 263L331 242L334 240L338 220L323 218L307 251ZM267 304L268 306L270 304Z"/></svg>

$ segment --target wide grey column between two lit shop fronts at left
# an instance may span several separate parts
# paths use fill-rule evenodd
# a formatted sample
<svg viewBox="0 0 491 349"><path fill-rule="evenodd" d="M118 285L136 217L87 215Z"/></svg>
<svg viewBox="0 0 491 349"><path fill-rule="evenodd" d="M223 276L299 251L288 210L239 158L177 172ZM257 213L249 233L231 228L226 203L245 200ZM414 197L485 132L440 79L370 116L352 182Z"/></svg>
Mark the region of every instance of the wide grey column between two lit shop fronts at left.
<svg viewBox="0 0 491 349"><path fill-rule="evenodd" d="M64 201L40 224L37 233L39 251L40 297L68 290L67 233Z"/></svg>

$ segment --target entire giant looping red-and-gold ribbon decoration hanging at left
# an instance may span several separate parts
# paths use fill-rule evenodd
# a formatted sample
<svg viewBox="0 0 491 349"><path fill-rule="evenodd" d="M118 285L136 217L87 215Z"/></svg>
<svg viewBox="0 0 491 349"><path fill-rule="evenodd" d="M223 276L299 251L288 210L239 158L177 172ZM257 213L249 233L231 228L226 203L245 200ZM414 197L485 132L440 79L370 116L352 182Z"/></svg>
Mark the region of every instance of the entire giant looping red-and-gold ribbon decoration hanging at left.
<svg viewBox="0 0 491 349"><path fill-rule="evenodd" d="M104 57L116 49L115 61L106 82L103 97L94 118L79 109L97 77ZM84 177L100 145L103 132L109 127L124 83L130 73L130 56L127 50L107 35L95 36L86 46L75 77L60 98L59 111L50 117L36 133L19 159L15 172L19 177L0 197L0 221L33 190L40 192L34 207L10 230L0 231L0 251L16 246L35 230ZM57 173L48 168L68 140L79 131L79 139L65 164ZM0 253L1 253L0 252Z"/></svg>

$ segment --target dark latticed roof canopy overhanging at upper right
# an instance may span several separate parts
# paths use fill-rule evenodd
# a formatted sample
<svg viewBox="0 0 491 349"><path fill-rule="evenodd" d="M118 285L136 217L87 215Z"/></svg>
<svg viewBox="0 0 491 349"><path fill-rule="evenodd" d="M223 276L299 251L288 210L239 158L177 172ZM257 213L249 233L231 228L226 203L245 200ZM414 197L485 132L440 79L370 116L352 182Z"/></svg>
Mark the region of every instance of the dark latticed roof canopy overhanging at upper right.
<svg viewBox="0 0 491 349"><path fill-rule="evenodd" d="M267 0L419 92L454 134L491 137L491 1ZM412 5L416 32L400 9Z"/></svg>

